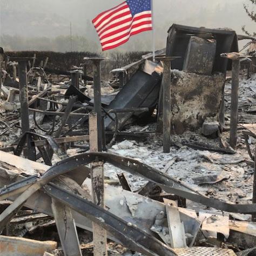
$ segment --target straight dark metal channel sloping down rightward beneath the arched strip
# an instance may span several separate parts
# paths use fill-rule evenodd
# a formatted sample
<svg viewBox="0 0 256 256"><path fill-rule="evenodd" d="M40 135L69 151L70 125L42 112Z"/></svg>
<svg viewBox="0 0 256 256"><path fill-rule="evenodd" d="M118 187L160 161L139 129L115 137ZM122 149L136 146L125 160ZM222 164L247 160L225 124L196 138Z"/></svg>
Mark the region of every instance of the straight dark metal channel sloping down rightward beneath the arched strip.
<svg viewBox="0 0 256 256"><path fill-rule="evenodd" d="M49 196L84 215L93 223L104 227L105 230L118 237L120 242L131 250L150 256L177 255L158 239L86 199L63 190L55 184L45 186L45 191Z"/></svg>

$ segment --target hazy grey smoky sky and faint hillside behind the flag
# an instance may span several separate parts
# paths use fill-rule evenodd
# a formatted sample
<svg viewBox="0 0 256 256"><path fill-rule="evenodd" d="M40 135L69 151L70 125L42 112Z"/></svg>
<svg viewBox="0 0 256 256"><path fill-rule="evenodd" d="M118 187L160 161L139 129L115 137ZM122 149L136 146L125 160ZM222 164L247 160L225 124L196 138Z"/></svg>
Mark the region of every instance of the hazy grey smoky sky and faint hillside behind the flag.
<svg viewBox="0 0 256 256"><path fill-rule="evenodd" d="M71 22L73 35L88 37L99 44L91 20L100 12L122 2L122 0L0 0L0 33L1 36L19 35L31 38L65 36L70 35ZM167 30L173 23L206 28L231 28L237 33L242 33L243 25L246 25L249 31L255 30L255 23L246 15L243 4L250 6L250 1L153 0L157 48L165 47ZM134 49L136 48L134 45L139 41L141 50L143 39L149 41L150 38L151 32L144 32L131 38L130 42L120 49Z"/></svg>

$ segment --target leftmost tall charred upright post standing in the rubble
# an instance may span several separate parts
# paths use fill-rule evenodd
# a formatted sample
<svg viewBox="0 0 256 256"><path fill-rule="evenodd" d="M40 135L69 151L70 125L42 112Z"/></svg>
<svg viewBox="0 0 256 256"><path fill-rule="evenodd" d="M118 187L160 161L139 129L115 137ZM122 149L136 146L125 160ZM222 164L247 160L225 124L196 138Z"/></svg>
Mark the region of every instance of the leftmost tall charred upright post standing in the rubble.
<svg viewBox="0 0 256 256"><path fill-rule="evenodd" d="M21 59L18 62L19 71L19 100L21 102L21 126L22 133L29 132L29 104L28 104L28 78L26 76L26 59ZM25 157L30 160L35 160L35 149L31 147L31 138L27 137L27 148L24 150Z"/></svg>

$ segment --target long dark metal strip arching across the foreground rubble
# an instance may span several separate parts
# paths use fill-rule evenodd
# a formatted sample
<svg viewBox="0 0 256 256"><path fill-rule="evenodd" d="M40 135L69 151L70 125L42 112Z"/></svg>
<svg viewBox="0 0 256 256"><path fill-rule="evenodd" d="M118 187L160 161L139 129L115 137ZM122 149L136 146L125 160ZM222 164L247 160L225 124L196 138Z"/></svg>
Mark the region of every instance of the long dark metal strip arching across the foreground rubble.
<svg viewBox="0 0 256 256"><path fill-rule="evenodd" d="M192 190L190 187L181 183L179 180L176 180L165 173L161 173L153 167L140 163L139 161L131 158L125 158L115 154L103 152L78 154L77 156L59 161L45 172L37 184L40 187L43 187L49 183L49 181L58 177L59 175L69 173L73 170L78 170L79 167L90 164L92 161L95 161L96 158L98 158L98 160L113 164L122 170L130 172L131 174L150 180L162 187L167 193L176 194L179 197L204 204L208 207L216 208L220 211L244 214L256 213L256 204L228 204L217 199L205 197L199 192Z"/></svg>

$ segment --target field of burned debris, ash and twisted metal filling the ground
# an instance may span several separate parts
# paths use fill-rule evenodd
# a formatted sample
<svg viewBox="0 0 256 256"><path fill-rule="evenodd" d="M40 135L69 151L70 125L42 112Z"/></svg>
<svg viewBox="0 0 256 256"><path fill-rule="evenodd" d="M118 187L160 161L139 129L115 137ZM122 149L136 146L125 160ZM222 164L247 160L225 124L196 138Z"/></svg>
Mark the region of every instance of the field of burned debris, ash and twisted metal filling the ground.
<svg viewBox="0 0 256 256"><path fill-rule="evenodd" d="M173 24L155 61L114 69L0 49L0 252L252 255L255 39L238 39Z"/></svg>

